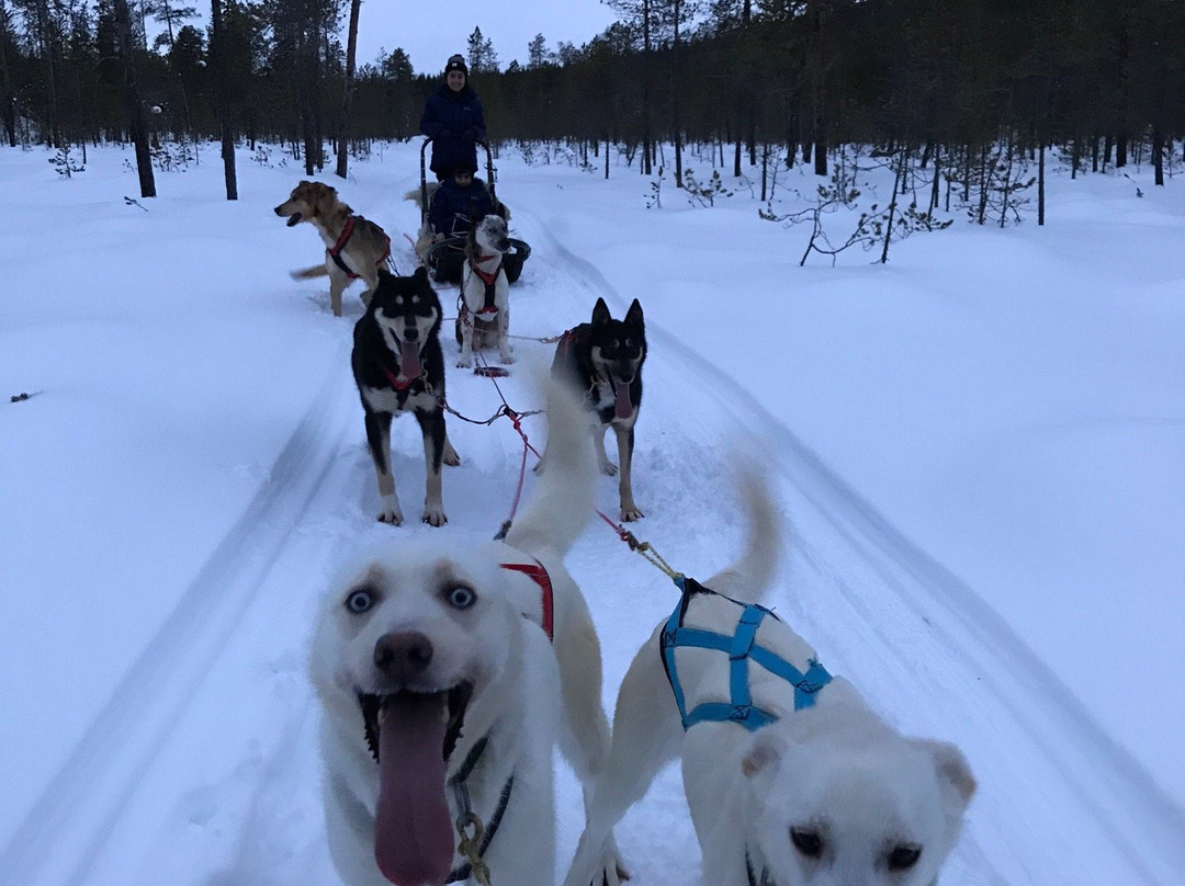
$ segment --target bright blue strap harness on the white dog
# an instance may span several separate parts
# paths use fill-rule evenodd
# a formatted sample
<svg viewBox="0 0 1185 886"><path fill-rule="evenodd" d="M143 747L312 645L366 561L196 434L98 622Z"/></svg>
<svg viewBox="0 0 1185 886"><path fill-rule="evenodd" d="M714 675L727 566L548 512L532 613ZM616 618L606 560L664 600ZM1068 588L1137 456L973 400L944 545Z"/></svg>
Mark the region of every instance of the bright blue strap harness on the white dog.
<svg viewBox="0 0 1185 886"><path fill-rule="evenodd" d="M659 646L662 655L662 667L666 669L667 681L671 683L671 691L674 693L675 704L679 705L679 715L683 718L684 730L691 728L697 723L738 723L749 731L756 731L777 719L777 714L752 704L752 693L749 689L750 662L766 668L766 670L794 686L795 711L801 711L805 707L814 705L815 693L831 682L831 674L827 673L827 669L814 659L809 659L807 670L802 673L782 656L756 643L757 628L761 627L766 616L771 616L780 621L776 615L756 603L741 603L723 593L717 593L710 588L704 588L692 578L681 577L681 583L679 584L681 584L683 598L667 619ZM741 616L737 619L736 630L731 636L684 625L687 605L692 597L699 593L710 593L720 597L741 608ZM693 710L687 711L687 699L684 695L678 668L675 667L674 653L679 647L715 649L728 653L730 695L728 701L704 701Z"/></svg>

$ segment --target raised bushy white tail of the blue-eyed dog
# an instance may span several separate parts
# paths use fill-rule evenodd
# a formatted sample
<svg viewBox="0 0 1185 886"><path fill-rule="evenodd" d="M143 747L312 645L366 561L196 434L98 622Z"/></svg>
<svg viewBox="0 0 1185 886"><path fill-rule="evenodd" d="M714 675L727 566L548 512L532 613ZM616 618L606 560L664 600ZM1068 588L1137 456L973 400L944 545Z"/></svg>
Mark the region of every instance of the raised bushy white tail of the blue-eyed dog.
<svg viewBox="0 0 1185 886"><path fill-rule="evenodd" d="M546 468L506 541L520 551L547 548L563 556L592 515L596 461L588 413L570 386L549 378L545 398Z"/></svg>

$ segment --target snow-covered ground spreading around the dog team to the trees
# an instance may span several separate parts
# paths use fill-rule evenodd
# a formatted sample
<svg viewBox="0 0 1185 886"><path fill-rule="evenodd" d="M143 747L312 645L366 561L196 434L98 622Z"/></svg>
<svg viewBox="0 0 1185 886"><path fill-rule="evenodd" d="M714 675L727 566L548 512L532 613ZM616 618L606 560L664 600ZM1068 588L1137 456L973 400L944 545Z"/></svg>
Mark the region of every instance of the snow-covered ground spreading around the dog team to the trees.
<svg viewBox="0 0 1185 886"><path fill-rule="evenodd" d="M417 149L386 146L340 185L404 270ZM321 248L273 214L301 169L271 156L239 158L228 203L205 146L134 205L128 152L92 149L62 180L45 152L0 149L6 886L335 882L305 675L314 601L363 540L488 535L510 511L518 435L453 420L448 527L372 521L357 285L334 319L325 281L289 280ZM1129 174L1056 172L1045 227L960 220L884 267L848 251L803 269L806 230L761 220L743 184L700 208L667 181L647 208L636 169L499 160L533 248L508 402L538 405L524 378L551 347L532 336L597 296L619 316L641 300L635 532L710 574L739 540L731 464L757 455L795 532L773 602L890 721L959 743L979 777L944 882L1185 884L1185 199ZM783 212L802 205L787 184L814 190L781 179ZM476 418L499 404L451 368L449 397ZM415 423L393 437L412 513ZM608 479L600 505L616 513ZM611 705L674 589L600 520L569 563ZM563 865L581 821L565 770L557 802ZM620 842L641 886L699 881L675 770Z"/></svg>

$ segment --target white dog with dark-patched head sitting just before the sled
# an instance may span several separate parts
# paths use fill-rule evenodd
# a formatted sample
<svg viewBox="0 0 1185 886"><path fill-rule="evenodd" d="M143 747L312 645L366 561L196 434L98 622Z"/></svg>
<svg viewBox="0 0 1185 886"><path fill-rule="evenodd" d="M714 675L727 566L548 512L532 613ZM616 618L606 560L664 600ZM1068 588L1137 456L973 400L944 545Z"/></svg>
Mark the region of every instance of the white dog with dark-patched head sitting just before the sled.
<svg viewBox="0 0 1185 886"><path fill-rule="evenodd" d="M465 265L461 268L460 316L456 338L461 357L456 365L473 366L473 352L487 345L498 346L498 359L514 362L508 332L511 323L511 284L504 259L511 251L510 230L501 216L474 219L465 242Z"/></svg>

